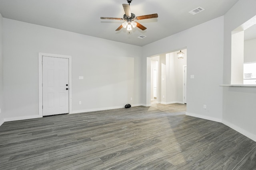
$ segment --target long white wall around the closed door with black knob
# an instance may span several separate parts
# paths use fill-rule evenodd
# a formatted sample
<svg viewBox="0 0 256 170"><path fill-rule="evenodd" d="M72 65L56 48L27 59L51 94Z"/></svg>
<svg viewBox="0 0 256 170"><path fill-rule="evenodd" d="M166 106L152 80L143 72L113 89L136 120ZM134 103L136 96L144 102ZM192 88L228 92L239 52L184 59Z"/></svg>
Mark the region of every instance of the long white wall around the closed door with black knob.
<svg viewBox="0 0 256 170"><path fill-rule="evenodd" d="M5 120L38 115L38 52L72 56L72 113L141 104L142 47L6 18L3 28Z"/></svg>

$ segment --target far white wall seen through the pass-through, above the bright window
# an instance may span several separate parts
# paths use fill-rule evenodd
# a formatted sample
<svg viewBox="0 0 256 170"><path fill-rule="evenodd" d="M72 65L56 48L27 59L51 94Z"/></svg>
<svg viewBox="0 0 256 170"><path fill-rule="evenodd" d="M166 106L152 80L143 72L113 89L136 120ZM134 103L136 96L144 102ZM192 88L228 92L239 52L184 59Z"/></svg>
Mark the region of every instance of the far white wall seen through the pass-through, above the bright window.
<svg viewBox="0 0 256 170"><path fill-rule="evenodd" d="M256 63L256 39L244 41L244 63Z"/></svg>

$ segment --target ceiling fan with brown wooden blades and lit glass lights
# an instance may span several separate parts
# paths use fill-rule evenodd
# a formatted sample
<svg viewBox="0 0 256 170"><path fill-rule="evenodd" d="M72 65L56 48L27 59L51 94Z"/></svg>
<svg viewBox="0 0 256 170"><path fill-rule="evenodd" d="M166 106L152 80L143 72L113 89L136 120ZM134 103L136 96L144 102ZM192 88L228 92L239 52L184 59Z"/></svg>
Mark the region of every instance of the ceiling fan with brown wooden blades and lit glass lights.
<svg viewBox="0 0 256 170"><path fill-rule="evenodd" d="M146 27L144 27L143 25L141 25L140 23L134 21L134 20L144 20L144 19L150 19L150 18L158 18L158 14L149 14L149 15L144 15L144 16L135 16L135 14L131 13L130 10L130 3L132 2L132 0L127 0L127 2L129 4L123 4L123 8L124 8L124 17L123 18L112 18L112 17L100 17L100 19L108 19L108 20L125 20L124 23L122 23L122 25L120 25L116 31L119 31L122 27L126 28L127 30L130 31L132 30L132 27L138 27L140 28L142 31L147 29Z"/></svg>

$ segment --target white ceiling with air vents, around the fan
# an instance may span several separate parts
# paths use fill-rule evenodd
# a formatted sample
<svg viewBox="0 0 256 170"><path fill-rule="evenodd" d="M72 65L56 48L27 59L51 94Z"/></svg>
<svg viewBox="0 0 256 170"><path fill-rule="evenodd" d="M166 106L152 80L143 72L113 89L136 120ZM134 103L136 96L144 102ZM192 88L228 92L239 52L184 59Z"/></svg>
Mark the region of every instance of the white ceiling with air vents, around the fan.
<svg viewBox="0 0 256 170"><path fill-rule="evenodd" d="M145 31L122 28L115 31L122 18L122 4L127 0L0 0L0 13L9 18L37 25L100 37L122 43L144 46L200 23L224 15L238 0L132 0L131 12L136 16L158 14L158 18L139 20ZM195 8L205 10L191 15ZM144 39L137 38L146 35Z"/></svg>

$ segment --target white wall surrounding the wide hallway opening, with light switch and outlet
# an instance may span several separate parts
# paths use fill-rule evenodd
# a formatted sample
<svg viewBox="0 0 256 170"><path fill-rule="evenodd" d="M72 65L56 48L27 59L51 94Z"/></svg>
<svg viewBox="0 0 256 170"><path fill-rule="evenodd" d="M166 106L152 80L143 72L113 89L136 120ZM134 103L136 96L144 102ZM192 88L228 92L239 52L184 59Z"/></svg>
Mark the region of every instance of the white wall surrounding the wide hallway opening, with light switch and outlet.
<svg viewBox="0 0 256 170"><path fill-rule="evenodd" d="M187 114L221 121L223 22L222 16L142 47L144 104L149 94L146 58L187 47Z"/></svg>

